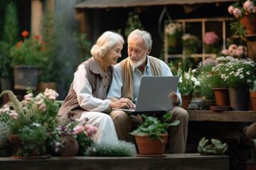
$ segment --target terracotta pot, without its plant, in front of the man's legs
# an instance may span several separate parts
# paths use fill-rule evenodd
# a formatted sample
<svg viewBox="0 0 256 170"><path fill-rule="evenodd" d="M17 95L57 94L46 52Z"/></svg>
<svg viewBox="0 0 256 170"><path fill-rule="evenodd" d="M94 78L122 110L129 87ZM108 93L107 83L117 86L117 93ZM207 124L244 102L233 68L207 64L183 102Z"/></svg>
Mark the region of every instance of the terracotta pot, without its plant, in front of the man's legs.
<svg viewBox="0 0 256 170"><path fill-rule="evenodd" d="M149 140L149 135L135 135L135 140L138 145L139 157L164 157L164 149L168 139L168 134L161 134L160 137L164 140L161 142L158 138Z"/></svg>

